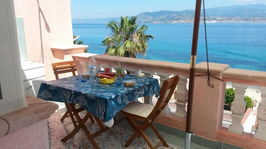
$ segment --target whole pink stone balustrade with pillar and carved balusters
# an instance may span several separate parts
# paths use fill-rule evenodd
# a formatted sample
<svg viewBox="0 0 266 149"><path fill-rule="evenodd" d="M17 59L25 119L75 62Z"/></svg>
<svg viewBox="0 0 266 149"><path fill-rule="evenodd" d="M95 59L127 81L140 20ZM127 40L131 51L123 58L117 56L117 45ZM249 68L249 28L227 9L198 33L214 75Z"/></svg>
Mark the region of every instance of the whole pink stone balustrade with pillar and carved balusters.
<svg viewBox="0 0 266 149"><path fill-rule="evenodd" d="M79 53L72 55L78 73L88 70L88 62L92 55L95 54ZM185 129L189 64L106 55L95 55L95 59L102 68L113 67L115 69L117 63L120 62L122 69L127 69L127 72L130 72L131 75L138 75L138 72L142 69L142 73L146 77L153 77L153 73L157 71L160 84L171 77L171 74L178 75L180 80L174 93L176 111L172 109L171 112L167 106L163 114L158 116L155 121L173 128ZM226 142L243 148L265 147L266 72L228 67L229 65L227 64L209 63L211 75L223 79L223 81L220 81L211 77L210 82L214 85L214 88L207 85L207 76L195 77L192 130L197 136L202 138ZM206 74L206 72L206 62L196 65L196 75ZM232 82L232 87L235 88L235 100L231 104L232 124L229 128L222 127L226 82ZM262 100L257 110L259 126L254 135L243 132L242 126L242 119L246 110L244 95L248 85L260 86L259 89L262 93ZM144 103L153 104L152 96L144 97ZM250 147L250 143L256 144L255 147Z"/></svg>

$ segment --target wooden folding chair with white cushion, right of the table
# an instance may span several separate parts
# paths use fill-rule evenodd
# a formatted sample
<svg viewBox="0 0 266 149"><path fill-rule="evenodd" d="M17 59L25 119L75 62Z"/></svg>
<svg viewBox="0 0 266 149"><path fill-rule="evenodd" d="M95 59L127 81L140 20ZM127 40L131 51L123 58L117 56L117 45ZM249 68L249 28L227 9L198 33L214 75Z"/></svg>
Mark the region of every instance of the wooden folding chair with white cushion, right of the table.
<svg viewBox="0 0 266 149"><path fill-rule="evenodd" d="M124 145L124 147L128 147L130 143L138 136L142 136L143 139L146 141L148 146L150 148L157 148L161 143L165 147L169 147L167 142L165 142L164 138L160 135L158 130L155 128L155 126L152 125L152 122L155 120L155 118L161 113L161 111L164 109L164 107L168 104L169 100L171 99L174 90L176 88L176 85L179 81L178 76L171 77L167 80L164 80L163 85L161 86L160 90L160 97L158 98L158 101L156 105L150 105L145 104L141 102L131 102L127 104L120 112L123 116L126 117L129 124L132 126L132 128L135 130L135 133L131 136L131 138L127 141L127 143ZM169 94L167 95L166 99L164 99L165 94L170 89ZM142 121L141 125L138 125L135 120ZM144 131L150 126L154 133L157 135L157 137L160 139L160 142L157 143L155 146L152 145L152 143L149 141L148 137L144 133Z"/></svg>

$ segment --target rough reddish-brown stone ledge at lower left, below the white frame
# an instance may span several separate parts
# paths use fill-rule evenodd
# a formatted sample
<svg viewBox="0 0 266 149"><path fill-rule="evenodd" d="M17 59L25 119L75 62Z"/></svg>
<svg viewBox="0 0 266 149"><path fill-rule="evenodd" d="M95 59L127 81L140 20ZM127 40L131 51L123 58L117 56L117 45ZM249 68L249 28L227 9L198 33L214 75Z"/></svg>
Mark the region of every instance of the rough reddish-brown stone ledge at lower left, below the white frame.
<svg viewBox="0 0 266 149"><path fill-rule="evenodd" d="M30 96L26 96L26 103L26 107L1 115L9 123L10 128L8 131L7 122L0 119L0 137L5 136L7 132L10 134L35 122L47 119L59 108L55 103Z"/></svg>

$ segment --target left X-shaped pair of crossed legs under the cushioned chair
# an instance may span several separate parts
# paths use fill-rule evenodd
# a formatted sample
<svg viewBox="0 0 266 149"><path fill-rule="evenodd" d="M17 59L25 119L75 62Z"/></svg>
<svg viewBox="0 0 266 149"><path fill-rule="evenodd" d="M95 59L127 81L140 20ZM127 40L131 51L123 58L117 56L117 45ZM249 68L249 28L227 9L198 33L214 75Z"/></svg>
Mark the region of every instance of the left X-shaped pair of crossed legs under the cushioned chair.
<svg viewBox="0 0 266 149"><path fill-rule="evenodd" d="M152 149L155 149L155 147L152 145L152 143L149 141L148 137L146 136L146 134L143 132L143 129L146 127L146 125L148 125L148 121L144 121L140 126L138 126L138 124L130 117L128 117L128 120L130 121L130 123L132 125L134 125L134 128L136 128L137 130L135 131L135 133L130 137L130 139L127 141L127 143L124 145L124 147L128 147L130 145L130 143L132 141L134 141L134 139L141 134L143 139L145 140L145 142L148 144L148 146Z"/></svg>

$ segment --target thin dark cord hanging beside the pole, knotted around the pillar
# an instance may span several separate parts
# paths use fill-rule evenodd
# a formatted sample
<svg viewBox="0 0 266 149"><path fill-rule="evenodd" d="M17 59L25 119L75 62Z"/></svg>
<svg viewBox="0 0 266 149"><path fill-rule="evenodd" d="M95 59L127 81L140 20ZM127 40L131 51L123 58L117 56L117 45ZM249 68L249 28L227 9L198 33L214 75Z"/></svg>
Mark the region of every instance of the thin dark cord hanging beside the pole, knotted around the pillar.
<svg viewBox="0 0 266 149"><path fill-rule="evenodd" d="M205 16L205 3L204 3L204 0L203 0L203 15L204 15L205 45L206 45L206 56L207 56L207 68L208 68L208 71L207 71L207 75L195 75L195 76L208 76L207 84L208 84L208 86L210 86L210 87L213 88L214 85L212 85L210 83L210 76L211 77L214 77L214 76L210 75L210 71L209 71L208 46L207 46L207 31L206 31L206 16ZM223 81L220 78L217 78L217 77L214 77L214 78Z"/></svg>

